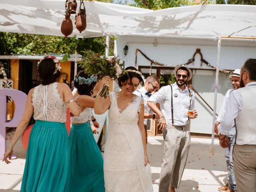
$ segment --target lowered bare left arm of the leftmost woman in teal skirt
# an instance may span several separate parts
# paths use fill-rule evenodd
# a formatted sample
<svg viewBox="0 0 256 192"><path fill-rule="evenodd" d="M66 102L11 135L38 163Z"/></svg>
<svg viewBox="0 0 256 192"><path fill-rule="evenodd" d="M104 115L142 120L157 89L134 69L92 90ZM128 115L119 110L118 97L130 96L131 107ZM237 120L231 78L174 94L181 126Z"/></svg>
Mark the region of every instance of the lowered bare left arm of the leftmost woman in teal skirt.
<svg viewBox="0 0 256 192"><path fill-rule="evenodd" d="M28 126L28 123L30 121L30 118L33 114L33 111L34 111L34 107L32 106L32 94L33 94L33 92L34 92L34 89L31 89L28 93L23 116L20 119L20 122L18 123L18 126L16 128L15 133L14 133L12 142L8 146L6 152L4 153L3 161L5 161L7 164L10 163L10 161L7 160L7 156L9 155L9 159L12 159L13 147L16 144L16 142L19 140L19 138L22 136L23 132L26 130L26 128Z"/></svg>

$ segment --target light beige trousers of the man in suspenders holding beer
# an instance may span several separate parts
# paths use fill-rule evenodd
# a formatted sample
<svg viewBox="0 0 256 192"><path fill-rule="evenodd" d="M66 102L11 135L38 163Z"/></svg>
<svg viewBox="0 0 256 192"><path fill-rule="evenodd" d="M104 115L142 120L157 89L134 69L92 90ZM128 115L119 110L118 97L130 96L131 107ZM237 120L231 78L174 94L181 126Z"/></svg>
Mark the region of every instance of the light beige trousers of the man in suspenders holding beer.
<svg viewBox="0 0 256 192"><path fill-rule="evenodd" d="M163 132L164 162L160 172L159 192L168 192L169 186L178 188L190 148L187 126L167 125Z"/></svg>

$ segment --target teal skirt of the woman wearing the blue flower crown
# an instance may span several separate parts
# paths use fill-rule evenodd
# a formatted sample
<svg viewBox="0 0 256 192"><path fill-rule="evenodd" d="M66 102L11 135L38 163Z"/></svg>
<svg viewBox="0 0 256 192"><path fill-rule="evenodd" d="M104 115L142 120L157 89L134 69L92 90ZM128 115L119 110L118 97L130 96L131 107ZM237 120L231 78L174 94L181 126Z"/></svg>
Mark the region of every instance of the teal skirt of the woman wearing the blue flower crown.
<svg viewBox="0 0 256 192"><path fill-rule="evenodd" d="M89 123L72 124L65 192L105 192L103 158Z"/></svg>

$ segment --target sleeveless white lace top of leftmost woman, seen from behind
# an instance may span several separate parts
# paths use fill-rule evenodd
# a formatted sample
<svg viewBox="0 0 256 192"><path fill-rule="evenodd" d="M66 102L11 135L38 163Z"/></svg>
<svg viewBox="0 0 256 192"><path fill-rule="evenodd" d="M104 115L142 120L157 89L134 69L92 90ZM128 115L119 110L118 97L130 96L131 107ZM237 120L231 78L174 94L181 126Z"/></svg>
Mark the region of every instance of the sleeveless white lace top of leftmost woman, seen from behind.
<svg viewBox="0 0 256 192"><path fill-rule="evenodd" d="M38 85L34 88L32 105L34 119L51 122L66 122L66 104L60 98L57 82L49 85Z"/></svg>

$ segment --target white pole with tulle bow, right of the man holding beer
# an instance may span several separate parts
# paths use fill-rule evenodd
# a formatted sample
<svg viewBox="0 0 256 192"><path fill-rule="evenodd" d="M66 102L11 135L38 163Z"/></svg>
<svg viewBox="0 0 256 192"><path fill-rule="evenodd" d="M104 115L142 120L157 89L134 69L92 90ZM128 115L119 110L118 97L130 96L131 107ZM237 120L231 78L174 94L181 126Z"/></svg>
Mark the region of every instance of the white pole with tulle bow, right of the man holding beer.
<svg viewBox="0 0 256 192"><path fill-rule="evenodd" d="M221 37L218 40L218 55L217 55L217 65L216 65L216 77L215 77L215 92L214 92L214 106L213 106L213 116L212 116L212 146L211 153L213 153L214 147L214 125L216 121L216 104L217 104L217 93L218 93L218 80L219 80L219 65L220 65L220 46L221 46Z"/></svg>

